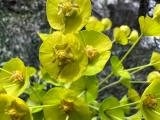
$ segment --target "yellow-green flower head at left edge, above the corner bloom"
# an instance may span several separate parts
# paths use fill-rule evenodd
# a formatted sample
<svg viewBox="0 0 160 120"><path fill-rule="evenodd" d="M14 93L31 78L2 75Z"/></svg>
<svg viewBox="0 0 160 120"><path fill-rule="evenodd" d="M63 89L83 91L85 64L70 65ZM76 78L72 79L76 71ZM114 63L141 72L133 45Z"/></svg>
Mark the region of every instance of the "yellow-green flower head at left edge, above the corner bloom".
<svg viewBox="0 0 160 120"><path fill-rule="evenodd" d="M0 84L9 95L19 96L29 85L29 77L35 73L32 67L26 67L19 58L4 63L0 70Z"/></svg>

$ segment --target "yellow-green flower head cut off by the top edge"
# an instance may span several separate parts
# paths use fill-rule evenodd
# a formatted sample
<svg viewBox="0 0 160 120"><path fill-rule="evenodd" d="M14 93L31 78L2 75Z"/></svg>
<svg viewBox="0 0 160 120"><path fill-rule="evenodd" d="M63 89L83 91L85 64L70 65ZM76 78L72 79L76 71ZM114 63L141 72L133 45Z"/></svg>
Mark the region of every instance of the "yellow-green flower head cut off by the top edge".
<svg viewBox="0 0 160 120"><path fill-rule="evenodd" d="M78 32L91 15L90 0L47 0L47 18L53 29Z"/></svg>

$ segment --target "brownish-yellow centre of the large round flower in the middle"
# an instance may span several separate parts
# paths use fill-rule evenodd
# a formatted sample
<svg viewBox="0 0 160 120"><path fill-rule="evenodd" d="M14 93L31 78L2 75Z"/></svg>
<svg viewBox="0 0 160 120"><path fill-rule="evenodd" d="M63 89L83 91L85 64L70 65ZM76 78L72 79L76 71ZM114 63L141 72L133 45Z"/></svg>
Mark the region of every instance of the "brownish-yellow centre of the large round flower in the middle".
<svg viewBox="0 0 160 120"><path fill-rule="evenodd" d="M54 48L54 53L56 55L56 59L58 60L59 66L64 66L73 62L73 54L68 44L56 45Z"/></svg>

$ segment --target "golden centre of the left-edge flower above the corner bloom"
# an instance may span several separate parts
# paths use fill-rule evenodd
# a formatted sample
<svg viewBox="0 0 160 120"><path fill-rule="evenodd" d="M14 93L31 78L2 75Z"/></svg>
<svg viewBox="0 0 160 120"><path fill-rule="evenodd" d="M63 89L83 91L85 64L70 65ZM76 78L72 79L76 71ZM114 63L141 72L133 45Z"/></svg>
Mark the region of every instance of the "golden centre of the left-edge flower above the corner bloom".
<svg viewBox="0 0 160 120"><path fill-rule="evenodd" d="M23 73L21 71L15 71L15 72L13 72L11 78L14 81L21 81L21 82L23 82L23 80L24 80Z"/></svg>

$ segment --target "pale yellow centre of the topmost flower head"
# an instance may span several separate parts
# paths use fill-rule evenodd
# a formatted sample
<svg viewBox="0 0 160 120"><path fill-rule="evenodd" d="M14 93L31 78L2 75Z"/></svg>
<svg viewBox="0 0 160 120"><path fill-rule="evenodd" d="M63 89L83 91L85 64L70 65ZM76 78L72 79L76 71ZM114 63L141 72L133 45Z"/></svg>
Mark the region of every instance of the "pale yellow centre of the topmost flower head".
<svg viewBox="0 0 160 120"><path fill-rule="evenodd" d="M74 12L77 12L78 9L78 4L66 0L58 4L58 15L71 16Z"/></svg>

